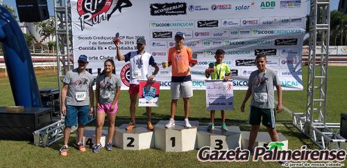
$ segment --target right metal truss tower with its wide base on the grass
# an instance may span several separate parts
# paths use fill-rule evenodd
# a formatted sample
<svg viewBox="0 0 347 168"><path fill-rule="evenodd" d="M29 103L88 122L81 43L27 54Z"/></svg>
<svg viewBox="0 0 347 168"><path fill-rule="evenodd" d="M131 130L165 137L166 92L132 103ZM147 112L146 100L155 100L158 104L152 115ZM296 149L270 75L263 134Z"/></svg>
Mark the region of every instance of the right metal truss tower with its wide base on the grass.
<svg viewBox="0 0 347 168"><path fill-rule="evenodd" d="M321 149L341 149L346 139L339 136L340 124L326 122L330 0L310 2L306 113L293 113L293 124ZM321 55L316 55L316 46L321 46Z"/></svg>

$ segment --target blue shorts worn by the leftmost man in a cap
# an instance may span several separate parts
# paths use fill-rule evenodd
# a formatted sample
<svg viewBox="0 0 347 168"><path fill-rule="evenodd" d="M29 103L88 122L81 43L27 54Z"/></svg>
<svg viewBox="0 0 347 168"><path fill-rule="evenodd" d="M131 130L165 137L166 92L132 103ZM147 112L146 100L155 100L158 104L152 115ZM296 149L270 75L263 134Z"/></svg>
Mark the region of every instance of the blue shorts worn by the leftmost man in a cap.
<svg viewBox="0 0 347 168"><path fill-rule="evenodd" d="M65 126L71 127L89 122L89 105L87 106L66 106Z"/></svg>

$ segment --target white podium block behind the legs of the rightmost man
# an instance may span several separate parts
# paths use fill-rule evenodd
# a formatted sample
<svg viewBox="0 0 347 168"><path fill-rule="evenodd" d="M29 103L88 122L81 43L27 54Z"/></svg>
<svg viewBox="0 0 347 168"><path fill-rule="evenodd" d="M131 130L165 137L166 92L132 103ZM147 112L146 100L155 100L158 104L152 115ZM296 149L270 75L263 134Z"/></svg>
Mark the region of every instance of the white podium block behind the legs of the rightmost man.
<svg viewBox="0 0 347 168"><path fill-rule="evenodd" d="M242 131L242 149L248 148L248 142L249 142L249 131ZM283 150L288 149L288 140L283 136L282 133L278 133L278 137L280 138L280 142L284 143L285 146L283 147ZM271 138L269 136L269 133L267 132L258 132L257 138L255 139L255 143L253 146L253 149L255 147L266 147L271 142Z"/></svg>

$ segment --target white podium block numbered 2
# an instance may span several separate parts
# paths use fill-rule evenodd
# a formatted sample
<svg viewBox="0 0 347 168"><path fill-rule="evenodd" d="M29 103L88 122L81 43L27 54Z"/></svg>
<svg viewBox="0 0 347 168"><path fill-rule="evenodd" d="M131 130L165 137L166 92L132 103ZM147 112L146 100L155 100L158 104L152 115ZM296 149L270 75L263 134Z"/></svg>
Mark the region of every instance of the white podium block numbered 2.
<svg viewBox="0 0 347 168"><path fill-rule="evenodd" d="M146 124L137 124L130 131L126 130L128 124L121 124L116 128L113 144L126 150L142 150L154 147L153 131L147 129Z"/></svg>

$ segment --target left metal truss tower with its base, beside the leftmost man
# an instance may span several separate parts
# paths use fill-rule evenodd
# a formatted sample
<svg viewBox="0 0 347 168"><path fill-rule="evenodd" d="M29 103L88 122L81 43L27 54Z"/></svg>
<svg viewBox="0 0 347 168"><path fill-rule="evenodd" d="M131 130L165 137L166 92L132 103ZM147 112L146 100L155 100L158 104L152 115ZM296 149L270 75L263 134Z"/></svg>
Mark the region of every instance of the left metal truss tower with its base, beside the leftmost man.
<svg viewBox="0 0 347 168"><path fill-rule="evenodd" d="M70 0L54 0L56 18L56 52L58 67L58 89L61 97L62 77L74 66L72 57L72 24ZM61 101L60 106L61 106ZM34 131L34 144L37 146L48 146L60 140L63 135L64 117L56 118L53 124ZM76 130L73 127L72 130Z"/></svg>

